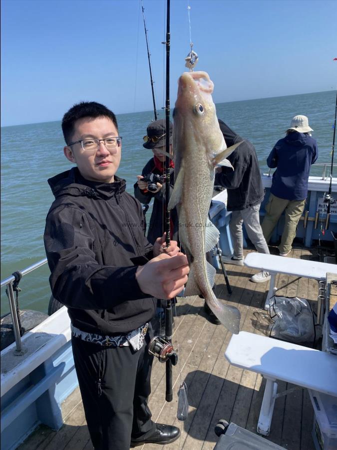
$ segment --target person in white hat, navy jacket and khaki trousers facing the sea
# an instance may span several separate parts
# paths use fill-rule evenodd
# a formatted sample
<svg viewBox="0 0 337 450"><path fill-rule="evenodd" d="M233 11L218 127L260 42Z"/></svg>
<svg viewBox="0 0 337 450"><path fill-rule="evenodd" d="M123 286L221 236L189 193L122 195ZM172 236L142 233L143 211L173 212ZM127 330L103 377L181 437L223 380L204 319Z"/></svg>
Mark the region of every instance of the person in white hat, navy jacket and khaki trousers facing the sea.
<svg viewBox="0 0 337 450"><path fill-rule="evenodd" d="M316 140L308 117L296 115L286 136L278 140L267 158L268 167L275 168L266 215L262 222L263 234L269 242L273 230L285 213L285 226L279 251L287 256L292 249L296 227L303 213L307 195L310 167L318 158Z"/></svg>

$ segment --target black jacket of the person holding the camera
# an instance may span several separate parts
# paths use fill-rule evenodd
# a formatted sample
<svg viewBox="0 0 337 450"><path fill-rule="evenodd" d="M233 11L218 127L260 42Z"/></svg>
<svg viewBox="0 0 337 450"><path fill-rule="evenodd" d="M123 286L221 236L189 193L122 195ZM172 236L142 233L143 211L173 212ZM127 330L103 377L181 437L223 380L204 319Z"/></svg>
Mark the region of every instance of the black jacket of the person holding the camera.
<svg viewBox="0 0 337 450"><path fill-rule="evenodd" d="M151 158L142 170L142 175L147 175L149 173L155 173L157 175L162 175L160 170L155 166L153 158ZM170 196L173 192L174 186L174 168L170 168ZM139 189L137 183L134 184L134 195L137 200L141 201L143 204L149 204L153 198L153 208L149 222L149 228L147 231L147 238L149 242L154 243L157 237L161 237L165 231L165 195L166 195L166 184L163 183L163 187L156 193L150 191L144 192ZM177 209L174 207L170 212L171 217L171 239L178 241L178 213ZM172 229L173 228L173 229Z"/></svg>

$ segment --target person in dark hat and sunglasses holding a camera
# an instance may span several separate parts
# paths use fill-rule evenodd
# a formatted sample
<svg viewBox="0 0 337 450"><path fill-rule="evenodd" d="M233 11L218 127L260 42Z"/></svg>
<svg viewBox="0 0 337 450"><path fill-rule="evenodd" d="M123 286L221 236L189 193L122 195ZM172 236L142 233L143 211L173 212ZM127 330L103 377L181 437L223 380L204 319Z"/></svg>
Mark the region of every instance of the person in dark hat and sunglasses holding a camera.
<svg viewBox="0 0 337 450"><path fill-rule="evenodd" d="M159 119L150 122L146 129L146 135L143 137L143 147L152 150L153 156L145 164L141 175L137 175L138 181L134 184L134 196L141 203L148 205L153 200L153 208L150 217L147 239L149 242L155 242L163 235L165 231L166 214L166 184L161 177L165 172L165 151L166 151L166 120ZM170 154L172 151L173 124L169 127ZM170 195L174 187L174 162L170 160ZM171 239L178 240L178 213L173 208L170 212L170 234ZM175 300L176 301L176 300ZM157 300L157 310L152 325L159 334L165 334L165 316L164 307L166 301ZM174 320L172 322L174 326Z"/></svg>

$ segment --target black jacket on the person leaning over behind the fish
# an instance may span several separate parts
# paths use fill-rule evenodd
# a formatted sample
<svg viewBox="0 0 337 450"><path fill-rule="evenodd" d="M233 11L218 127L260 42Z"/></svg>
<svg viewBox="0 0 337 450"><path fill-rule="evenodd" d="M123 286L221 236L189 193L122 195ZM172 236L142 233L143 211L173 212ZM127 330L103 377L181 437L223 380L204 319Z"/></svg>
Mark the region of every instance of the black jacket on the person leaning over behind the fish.
<svg viewBox="0 0 337 450"><path fill-rule="evenodd" d="M244 140L222 120L219 120L219 124L227 147L243 141L227 158L234 171L231 167L222 167L222 172L215 175L215 184L228 189L227 209L241 211L263 200L264 189L259 161L254 145L249 140Z"/></svg>

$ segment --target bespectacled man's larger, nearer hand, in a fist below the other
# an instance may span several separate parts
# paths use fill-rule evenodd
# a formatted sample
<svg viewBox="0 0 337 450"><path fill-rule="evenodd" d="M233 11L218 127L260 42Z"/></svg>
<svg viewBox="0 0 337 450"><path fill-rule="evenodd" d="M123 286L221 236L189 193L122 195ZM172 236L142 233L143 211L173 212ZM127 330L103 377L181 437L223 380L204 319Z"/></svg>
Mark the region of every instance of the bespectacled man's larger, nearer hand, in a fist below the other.
<svg viewBox="0 0 337 450"><path fill-rule="evenodd" d="M168 299L182 291L189 271L185 254L179 252L176 256L169 256L162 253L138 267L136 280L144 293Z"/></svg>

